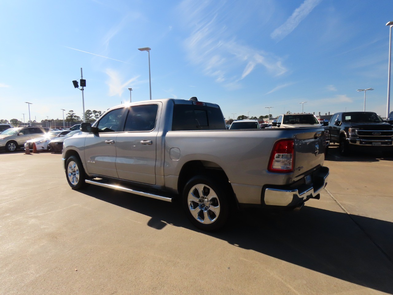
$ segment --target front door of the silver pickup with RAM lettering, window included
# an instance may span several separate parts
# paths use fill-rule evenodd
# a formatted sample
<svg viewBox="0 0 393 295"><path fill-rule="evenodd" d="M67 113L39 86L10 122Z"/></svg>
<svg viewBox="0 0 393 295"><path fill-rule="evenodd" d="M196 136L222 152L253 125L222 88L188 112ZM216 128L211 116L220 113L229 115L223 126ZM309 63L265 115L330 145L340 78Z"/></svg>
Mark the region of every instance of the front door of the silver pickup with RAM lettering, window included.
<svg viewBox="0 0 393 295"><path fill-rule="evenodd" d="M99 133L89 133L84 157L88 173L118 178L116 172L116 138L124 122L125 108L107 112L95 125Z"/></svg>

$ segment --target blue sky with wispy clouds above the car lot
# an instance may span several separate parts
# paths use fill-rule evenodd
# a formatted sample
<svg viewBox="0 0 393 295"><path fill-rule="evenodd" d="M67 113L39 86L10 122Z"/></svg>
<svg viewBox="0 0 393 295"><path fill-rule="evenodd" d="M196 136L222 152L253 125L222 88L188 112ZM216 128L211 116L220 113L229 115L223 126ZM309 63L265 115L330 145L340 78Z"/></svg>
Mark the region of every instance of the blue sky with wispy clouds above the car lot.
<svg viewBox="0 0 393 295"><path fill-rule="evenodd" d="M2 1L0 119L82 116L196 96L226 118L286 111L386 116L388 0ZM391 105L393 105L391 103ZM392 107L391 107L392 109ZM64 114L66 114L64 112Z"/></svg>

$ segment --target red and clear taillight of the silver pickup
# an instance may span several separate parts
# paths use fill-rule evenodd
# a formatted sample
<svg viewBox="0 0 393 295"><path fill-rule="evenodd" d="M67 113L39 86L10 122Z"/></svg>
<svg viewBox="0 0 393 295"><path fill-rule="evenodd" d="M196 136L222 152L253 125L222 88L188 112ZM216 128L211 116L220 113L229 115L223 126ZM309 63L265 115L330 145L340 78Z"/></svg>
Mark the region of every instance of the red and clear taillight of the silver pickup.
<svg viewBox="0 0 393 295"><path fill-rule="evenodd" d="M274 144L272 155L270 155L270 172L292 172L294 165L294 140L283 139Z"/></svg>

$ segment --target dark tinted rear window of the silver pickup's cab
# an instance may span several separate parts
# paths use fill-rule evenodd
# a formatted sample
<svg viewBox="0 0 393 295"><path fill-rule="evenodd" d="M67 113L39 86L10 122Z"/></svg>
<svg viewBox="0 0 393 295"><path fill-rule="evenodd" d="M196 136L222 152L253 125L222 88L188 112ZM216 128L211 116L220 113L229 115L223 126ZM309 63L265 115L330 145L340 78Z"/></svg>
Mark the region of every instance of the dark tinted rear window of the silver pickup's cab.
<svg viewBox="0 0 393 295"><path fill-rule="evenodd" d="M174 105L172 131L226 129L219 108L204 105Z"/></svg>

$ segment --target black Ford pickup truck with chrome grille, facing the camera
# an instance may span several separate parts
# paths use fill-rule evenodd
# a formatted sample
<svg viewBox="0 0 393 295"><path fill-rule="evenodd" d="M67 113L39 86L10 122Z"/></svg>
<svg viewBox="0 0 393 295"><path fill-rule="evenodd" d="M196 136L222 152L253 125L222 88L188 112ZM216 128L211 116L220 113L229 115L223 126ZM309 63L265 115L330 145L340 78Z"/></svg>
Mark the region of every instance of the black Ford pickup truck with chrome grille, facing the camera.
<svg viewBox="0 0 393 295"><path fill-rule="evenodd" d="M331 142L340 144L340 154L355 147L393 152L393 127L375 112L337 112L328 125Z"/></svg>

